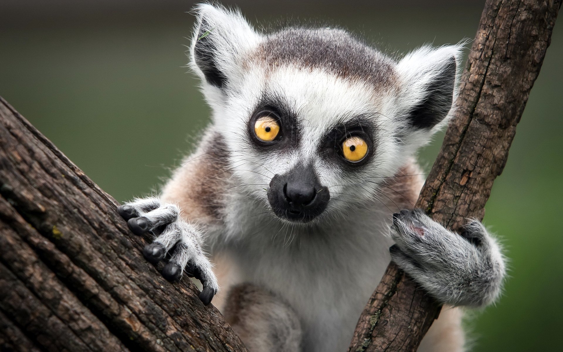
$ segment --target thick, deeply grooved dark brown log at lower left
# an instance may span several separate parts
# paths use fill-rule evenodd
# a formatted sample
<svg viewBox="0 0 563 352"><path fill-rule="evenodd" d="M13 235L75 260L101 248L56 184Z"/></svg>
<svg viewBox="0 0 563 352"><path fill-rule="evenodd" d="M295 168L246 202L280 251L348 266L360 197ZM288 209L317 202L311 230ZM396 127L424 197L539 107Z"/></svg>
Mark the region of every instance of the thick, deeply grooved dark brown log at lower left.
<svg viewBox="0 0 563 352"><path fill-rule="evenodd" d="M0 349L246 351L117 206L0 98Z"/></svg>

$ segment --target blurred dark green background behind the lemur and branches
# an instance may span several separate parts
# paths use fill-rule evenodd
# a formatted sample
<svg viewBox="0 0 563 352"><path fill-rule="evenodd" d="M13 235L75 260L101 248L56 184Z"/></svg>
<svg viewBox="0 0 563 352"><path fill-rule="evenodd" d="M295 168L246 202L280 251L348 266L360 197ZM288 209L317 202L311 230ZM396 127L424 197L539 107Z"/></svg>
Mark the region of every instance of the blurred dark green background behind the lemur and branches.
<svg viewBox="0 0 563 352"><path fill-rule="evenodd" d="M254 24L314 19L404 53L473 38L484 1L243 0ZM208 121L187 69L189 1L2 0L0 95L104 190L158 189ZM560 20L561 21L561 20ZM485 224L510 258L506 293L472 314L475 351L561 350L563 337L563 24L556 25ZM429 168L441 136L421 152Z"/></svg>

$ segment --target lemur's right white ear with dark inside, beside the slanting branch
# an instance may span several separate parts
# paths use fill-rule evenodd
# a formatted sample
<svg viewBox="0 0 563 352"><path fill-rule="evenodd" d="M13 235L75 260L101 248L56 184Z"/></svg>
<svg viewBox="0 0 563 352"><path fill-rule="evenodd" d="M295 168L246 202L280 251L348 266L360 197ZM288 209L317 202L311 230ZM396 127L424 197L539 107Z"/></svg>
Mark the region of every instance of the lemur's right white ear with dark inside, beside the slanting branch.
<svg viewBox="0 0 563 352"><path fill-rule="evenodd" d="M446 121L457 96L457 69L462 49L462 44L422 47L399 62L401 113L407 130L430 132Z"/></svg>

